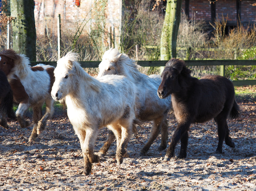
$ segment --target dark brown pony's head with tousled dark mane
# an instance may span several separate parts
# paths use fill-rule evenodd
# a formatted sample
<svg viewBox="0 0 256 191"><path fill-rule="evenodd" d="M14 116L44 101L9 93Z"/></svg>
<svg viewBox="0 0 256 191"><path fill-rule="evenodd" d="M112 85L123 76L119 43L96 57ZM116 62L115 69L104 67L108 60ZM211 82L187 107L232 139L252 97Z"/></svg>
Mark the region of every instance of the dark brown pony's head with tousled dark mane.
<svg viewBox="0 0 256 191"><path fill-rule="evenodd" d="M157 94L164 99L172 93L179 92L181 89L181 82L179 77L190 76L189 70L183 60L172 58L169 60L161 74L162 82L158 87Z"/></svg>

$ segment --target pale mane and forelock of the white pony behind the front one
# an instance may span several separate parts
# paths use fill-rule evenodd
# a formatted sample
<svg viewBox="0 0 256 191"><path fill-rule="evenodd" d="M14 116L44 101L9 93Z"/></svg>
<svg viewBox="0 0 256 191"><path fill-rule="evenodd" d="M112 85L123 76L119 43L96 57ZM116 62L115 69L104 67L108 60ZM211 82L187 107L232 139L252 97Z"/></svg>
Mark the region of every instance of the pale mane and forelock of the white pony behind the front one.
<svg viewBox="0 0 256 191"><path fill-rule="evenodd" d="M108 59L109 61L116 63L117 70L121 75L128 73L132 75L132 78L138 78L140 74L138 69L141 68L141 66L137 65L137 62L129 58L125 53L121 54L116 48L111 48L106 51L102 60L103 59Z"/></svg>

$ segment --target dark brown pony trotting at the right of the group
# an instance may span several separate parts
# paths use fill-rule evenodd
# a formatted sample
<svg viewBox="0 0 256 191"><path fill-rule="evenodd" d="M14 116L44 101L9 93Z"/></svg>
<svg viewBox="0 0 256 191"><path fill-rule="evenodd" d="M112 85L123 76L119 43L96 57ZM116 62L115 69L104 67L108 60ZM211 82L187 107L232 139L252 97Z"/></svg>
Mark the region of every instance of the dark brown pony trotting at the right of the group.
<svg viewBox="0 0 256 191"><path fill-rule="evenodd" d="M235 101L232 82L225 77L208 75L200 80L190 76L184 61L171 59L161 75L162 82L157 90L162 99L171 94L172 106L178 126L172 135L171 145L164 160L170 160L174 149L181 140L179 158L186 158L188 130L192 123L204 123L212 118L218 124L219 143L216 153L222 153L222 145L234 148L229 136L226 119L239 117L239 106Z"/></svg>

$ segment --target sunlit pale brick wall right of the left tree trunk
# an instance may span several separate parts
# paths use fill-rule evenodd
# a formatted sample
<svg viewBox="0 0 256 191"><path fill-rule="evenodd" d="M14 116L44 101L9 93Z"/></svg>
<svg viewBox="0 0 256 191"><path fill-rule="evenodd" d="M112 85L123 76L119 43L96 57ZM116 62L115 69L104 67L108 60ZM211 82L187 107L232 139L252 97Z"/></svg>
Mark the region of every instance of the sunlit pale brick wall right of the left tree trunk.
<svg viewBox="0 0 256 191"><path fill-rule="evenodd" d="M105 0L104 8L98 9L101 5L96 5L96 0L80 0L80 6L75 4L75 0L35 0L35 22L38 34L44 34L46 27L51 35L57 34L57 18L61 15L62 27L77 30L77 23L84 19L87 22L84 30L89 32L95 22L103 22L106 31L115 31L115 45L120 41L120 16L122 0ZM92 10L91 10L92 9ZM91 10L91 11L90 11ZM102 21L95 18L102 14ZM111 30L110 30L111 28Z"/></svg>

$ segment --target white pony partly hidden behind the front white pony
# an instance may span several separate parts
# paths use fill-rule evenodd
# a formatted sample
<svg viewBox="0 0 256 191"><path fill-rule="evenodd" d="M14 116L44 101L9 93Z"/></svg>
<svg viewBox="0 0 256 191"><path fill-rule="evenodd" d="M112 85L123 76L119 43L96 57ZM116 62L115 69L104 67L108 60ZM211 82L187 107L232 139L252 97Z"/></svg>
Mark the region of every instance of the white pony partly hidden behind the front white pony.
<svg viewBox="0 0 256 191"><path fill-rule="evenodd" d="M136 84L138 89L136 92L136 118L141 121L153 121L150 138L140 151L140 155L146 155L160 130L162 140L158 150L164 150L167 147L168 122L166 118L171 109L171 99L160 99L157 95L157 89L162 81L160 75L147 76L139 72L139 67L136 61L129 56L111 48L103 55L97 78L111 74L124 75ZM102 156L106 154L113 141L114 137L110 132L108 139L99 151Z"/></svg>

